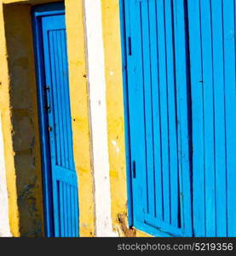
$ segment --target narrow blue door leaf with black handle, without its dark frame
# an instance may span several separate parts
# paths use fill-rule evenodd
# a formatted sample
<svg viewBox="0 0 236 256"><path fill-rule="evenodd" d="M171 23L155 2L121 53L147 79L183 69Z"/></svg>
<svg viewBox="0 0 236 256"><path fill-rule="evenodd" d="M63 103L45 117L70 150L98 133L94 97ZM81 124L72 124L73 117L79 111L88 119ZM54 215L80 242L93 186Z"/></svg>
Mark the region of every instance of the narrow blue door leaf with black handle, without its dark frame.
<svg viewBox="0 0 236 256"><path fill-rule="evenodd" d="M55 236L78 236L65 15L42 17Z"/></svg>

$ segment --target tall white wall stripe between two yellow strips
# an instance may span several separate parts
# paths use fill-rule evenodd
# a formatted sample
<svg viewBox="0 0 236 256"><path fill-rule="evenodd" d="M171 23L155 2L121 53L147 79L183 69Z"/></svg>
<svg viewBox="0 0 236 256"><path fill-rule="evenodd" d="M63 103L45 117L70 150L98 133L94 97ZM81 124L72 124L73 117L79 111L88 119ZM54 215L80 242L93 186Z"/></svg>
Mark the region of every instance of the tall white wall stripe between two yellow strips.
<svg viewBox="0 0 236 256"><path fill-rule="evenodd" d="M89 98L95 175L96 236L116 236L112 232L111 217L101 0L84 0L84 9L87 33Z"/></svg>

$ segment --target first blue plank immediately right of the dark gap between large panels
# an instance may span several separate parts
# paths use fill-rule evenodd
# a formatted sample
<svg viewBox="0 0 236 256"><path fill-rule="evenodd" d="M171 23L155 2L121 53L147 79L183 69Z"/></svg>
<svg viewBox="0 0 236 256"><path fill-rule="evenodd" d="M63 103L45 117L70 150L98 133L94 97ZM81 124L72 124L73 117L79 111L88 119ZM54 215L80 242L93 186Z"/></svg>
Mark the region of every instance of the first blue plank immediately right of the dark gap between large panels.
<svg viewBox="0 0 236 256"><path fill-rule="evenodd" d="M195 236L205 236L204 102L200 1L188 1L187 3L193 104L193 223Z"/></svg>

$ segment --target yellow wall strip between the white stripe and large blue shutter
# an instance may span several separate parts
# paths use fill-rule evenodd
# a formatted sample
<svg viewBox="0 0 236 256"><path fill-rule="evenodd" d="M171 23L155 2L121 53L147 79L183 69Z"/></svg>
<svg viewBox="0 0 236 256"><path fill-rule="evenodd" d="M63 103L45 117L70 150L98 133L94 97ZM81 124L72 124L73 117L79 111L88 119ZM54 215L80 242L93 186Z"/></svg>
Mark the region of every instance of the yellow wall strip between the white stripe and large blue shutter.
<svg viewBox="0 0 236 256"><path fill-rule="evenodd" d="M112 193L112 224L120 236L148 236L128 228L128 199L124 140L124 97L119 0L101 0L106 68L106 108ZM114 148L115 141L120 152Z"/></svg>

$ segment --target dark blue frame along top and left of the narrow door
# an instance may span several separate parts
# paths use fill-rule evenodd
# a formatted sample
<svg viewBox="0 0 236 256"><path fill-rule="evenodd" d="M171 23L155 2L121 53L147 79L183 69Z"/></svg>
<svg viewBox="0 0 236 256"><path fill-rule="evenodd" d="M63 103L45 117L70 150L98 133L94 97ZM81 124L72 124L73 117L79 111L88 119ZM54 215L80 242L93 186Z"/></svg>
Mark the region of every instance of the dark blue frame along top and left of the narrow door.
<svg viewBox="0 0 236 256"><path fill-rule="evenodd" d="M32 32L35 56L35 69L37 80L37 108L40 131L42 182L43 182L43 218L44 236L53 237L54 234L54 212L52 196L52 177L50 164L50 144L48 116L45 112L45 73L43 59L43 34L41 18L50 15L65 15L64 2L46 3L32 7Z"/></svg>

